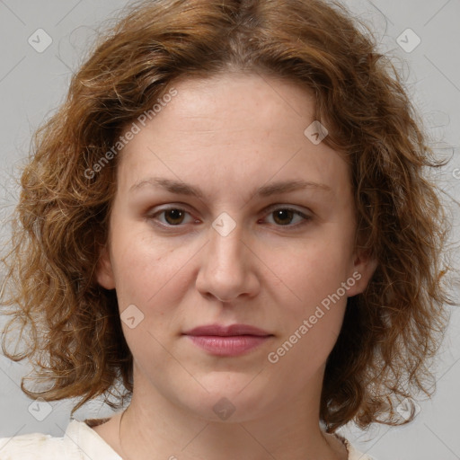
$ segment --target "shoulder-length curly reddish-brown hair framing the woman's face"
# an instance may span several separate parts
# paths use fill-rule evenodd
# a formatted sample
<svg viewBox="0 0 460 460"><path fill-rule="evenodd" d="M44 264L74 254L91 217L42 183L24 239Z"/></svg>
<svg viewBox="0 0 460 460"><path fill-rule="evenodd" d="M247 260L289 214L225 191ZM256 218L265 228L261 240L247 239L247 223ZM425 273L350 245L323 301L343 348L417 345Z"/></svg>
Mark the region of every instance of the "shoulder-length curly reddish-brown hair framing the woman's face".
<svg viewBox="0 0 460 460"><path fill-rule="evenodd" d="M429 361L447 328L446 305L455 305L443 284L453 270L443 259L451 226L425 174L445 163L429 148L391 58L338 2L148 0L122 13L36 131L22 170L3 258L1 305L13 318L2 348L15 361L29 358L32 380L48 384L28 390L23 377L22 391L47 401L78 397L72 414L96 396L116 409L132 394L117 296L95 280L119 157L88 171L177 79L237 70L314 93L314 119L329 131L323 142L349 162L356 247L378 262L366 290L348 299L326 363L320 420L330 433L349 421L365 429L413 420L414 394L431 394ZM15 325L25 349L9 352ZM117 383L124 391L111 401ZM403 398L412 406L407 420L395 411Z"/></svg>

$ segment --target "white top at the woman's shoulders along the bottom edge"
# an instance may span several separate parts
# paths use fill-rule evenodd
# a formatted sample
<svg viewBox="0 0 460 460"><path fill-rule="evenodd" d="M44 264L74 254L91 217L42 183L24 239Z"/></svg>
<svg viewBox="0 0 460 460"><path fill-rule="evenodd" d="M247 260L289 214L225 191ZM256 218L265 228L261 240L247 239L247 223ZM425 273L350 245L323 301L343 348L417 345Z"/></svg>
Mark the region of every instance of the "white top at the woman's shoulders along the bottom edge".
<svg viewBox="0 0 460 460"><path fill-rule="evenodd" d="M349 451L349 460L376 460L356 450L339 436ZM84 421L71 420L63 438L30 433L0 438L0 460L122 460Z"/></svg>

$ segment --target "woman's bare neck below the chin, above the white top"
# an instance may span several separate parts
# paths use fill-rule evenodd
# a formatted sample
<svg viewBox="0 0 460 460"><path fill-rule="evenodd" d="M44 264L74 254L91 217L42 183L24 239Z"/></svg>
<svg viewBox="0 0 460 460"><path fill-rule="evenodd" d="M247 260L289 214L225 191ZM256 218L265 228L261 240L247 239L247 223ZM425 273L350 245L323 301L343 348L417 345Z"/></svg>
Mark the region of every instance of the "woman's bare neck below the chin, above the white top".
<svg viewBox="0 0 460 460"><path fill-rule="evenodd" d="M151 386L134 388L131 403L119 423L119 451L124 460L347 459L341 442L320 429L321 386L315 392L304 392L308 397L302 401L293 398L282 407L265 408L265 413L258 411L256 401L242 399L240 404L244 402L246 407L255 404L252 413L259 412L258 418L247 416L249 411L241 411L237 417L240 405L233 398L235 410L226 420L199 417L196 411L153 392ZM211 403L211 409L212 406Z"/></svg>

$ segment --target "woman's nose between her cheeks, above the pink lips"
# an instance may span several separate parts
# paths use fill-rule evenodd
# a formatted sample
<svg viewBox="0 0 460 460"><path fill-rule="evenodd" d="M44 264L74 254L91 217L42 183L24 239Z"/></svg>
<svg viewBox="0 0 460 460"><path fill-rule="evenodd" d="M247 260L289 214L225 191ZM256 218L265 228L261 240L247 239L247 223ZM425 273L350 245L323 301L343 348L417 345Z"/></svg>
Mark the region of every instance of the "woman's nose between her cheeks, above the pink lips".
<svg viewBox="0 0 460 460"><path fill-rule="evenodd" d="M251 244L243 241L239 226L227 235L209 230L209 242L200 252L196 287L203 296L220 302L234 302L240 296L255 296L260 287L259 259Z"/></svg>

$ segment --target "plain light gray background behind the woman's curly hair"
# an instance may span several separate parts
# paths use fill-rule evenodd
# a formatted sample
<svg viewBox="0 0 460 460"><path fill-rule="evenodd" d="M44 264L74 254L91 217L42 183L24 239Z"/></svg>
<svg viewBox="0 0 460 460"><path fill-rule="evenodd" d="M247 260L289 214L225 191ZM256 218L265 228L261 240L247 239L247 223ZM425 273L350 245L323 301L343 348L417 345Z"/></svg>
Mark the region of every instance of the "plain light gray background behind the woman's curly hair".
<svg viewBox="0 0 460 460"><path fill-rule="evenodd" d="M82 62L95 28L126 3L0 0L1 218L12 210L16 199L17 189L10 175L28 155L31 134L63 102L70 75ZM437 180L454 219L453 239L459 241L460 169L456 168L460 168L460 0L344 3L373 27L381 50L394 56L394 64L401 69L412 101L425 120L432 148L440 156L452 157L447 167L437 173ZM411 52L404 51L397 40L408 28L421 40ZM38 29L45 30L52 39L49 48L41 53L28 42ZM404 32L402 40L407 42L403 46L412 48L417 38ZM0 235L2 242L8 236L4 228ZM458 261L456 253L455 257ZM456 299L459 287L458 282L453 286ZM21 377L30 370L25 364L10 362L0 355L0 438L36 431L53 436L64 434L75 402L32 402L19 387ZM453 308L435 370L437 392L432 400L420 401L420 415L414 422L401 428L376 426L367 432L350 426L341 429L341 433L378 460L460 459L457 308ZM110 414L108 407L95 401L77 411L75 418Z"/></svg>

